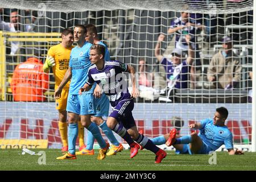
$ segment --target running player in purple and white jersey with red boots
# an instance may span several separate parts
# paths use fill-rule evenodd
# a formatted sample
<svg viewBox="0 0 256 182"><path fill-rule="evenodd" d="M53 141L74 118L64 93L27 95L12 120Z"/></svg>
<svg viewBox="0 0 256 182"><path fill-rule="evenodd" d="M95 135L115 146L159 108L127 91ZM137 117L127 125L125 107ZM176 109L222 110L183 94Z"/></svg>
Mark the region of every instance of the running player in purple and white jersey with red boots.
<svg viewBox="0 0 256 182"><path fill-rule="evenodd" d="M150 139L139 134L133 118L133 98L139 95L135 84L135 69L119 61L104 61L104 56L104 46L94 44L90 48L90 61L94 65L89 68L88 81L80 88L79 94L89 90L94 82L101 86L112 106L112 113L109 115L107 125L129 144L131 149L130 157L134 158L138 154L139 145L141 145L143 148L155 153L155 163L162 162L167 155L166 152L155 146ZM131 94L128 91L122 72L128 72L131 75L133 84Z"/></svg>

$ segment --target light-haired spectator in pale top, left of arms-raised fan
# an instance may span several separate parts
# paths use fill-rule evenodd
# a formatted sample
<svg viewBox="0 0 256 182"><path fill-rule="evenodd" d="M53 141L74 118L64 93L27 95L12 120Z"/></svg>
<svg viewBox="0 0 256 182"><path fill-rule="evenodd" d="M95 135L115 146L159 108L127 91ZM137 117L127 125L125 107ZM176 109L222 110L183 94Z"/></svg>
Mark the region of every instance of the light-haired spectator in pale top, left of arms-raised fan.
<svg viewBox="0 0 256 182"><path fill-rule="evenodd" d="M147 72L147 63L141 58L139 59L139 85L153 87L154 86L154 75Z"/></svg>

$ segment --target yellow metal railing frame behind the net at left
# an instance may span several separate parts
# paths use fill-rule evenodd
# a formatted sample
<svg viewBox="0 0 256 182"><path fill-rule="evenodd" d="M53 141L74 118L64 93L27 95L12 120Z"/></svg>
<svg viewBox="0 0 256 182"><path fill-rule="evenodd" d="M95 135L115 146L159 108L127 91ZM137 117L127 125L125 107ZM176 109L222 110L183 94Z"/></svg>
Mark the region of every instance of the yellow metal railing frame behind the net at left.
<svg viewBox="0 0 256 182"><path fill-rule="evenodd" d="M6 101L11 100L11 89L10 89L10 81L13 76L14 69L8 70L6 67L15 67L16 65L20 64L21 58L34 56L30 53L21 53L17 51L15 55L10 55L6 53L6 48L8 47L7 44L10 42L19 42L19 49L44 49L47 50L49 47L53 46L53 44L57 44L61 41L60 33L52 32L52 33L40 33L40 32L3 32L0 31L0 100ZM22 44L23 43L23 44ZM24 44L25 43L25 44ZM28 43L28 44L27 44ZM7 61L6 57L11 57L12 60L16 61ZM40 59L44 60L46 54L42 54L39 56ZM49 73L52 76L52 73ZM50 81L49 85L54 88L54 81ZM46 96L52 97L52 90L46 92Z"/></svg>

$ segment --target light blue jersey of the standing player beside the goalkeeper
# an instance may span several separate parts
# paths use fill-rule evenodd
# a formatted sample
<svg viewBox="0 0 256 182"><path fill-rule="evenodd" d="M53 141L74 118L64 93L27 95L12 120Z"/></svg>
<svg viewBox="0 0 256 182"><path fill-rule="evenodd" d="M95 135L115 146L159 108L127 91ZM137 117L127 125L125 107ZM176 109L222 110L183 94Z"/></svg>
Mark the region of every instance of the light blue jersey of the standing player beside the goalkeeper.
<svg viewBox="0 0 256 182"><path fill-rule="evenodd" d="M90 47L91 43L85 42L82 47L74 47L71 51L69 67L72 68L72 78L69 87L69 94L79 94L79 89L84 86L88 78L88 69L92 65L90 63ZM95 84L92 89L86 93L93 93Z"/></svg>

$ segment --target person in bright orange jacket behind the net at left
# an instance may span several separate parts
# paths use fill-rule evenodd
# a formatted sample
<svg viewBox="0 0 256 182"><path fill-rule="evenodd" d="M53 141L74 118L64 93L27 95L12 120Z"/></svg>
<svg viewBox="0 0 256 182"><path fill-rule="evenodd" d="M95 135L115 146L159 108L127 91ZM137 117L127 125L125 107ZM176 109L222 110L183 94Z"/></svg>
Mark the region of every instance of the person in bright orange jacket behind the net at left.
<svg viewBox="0 0 256 182"><path fill-rule="evenodd" d="M44 92L48 86L48 74L43 72L43 63L36 57L16 66L11 80L14 101L46 101Z"/></svg>

